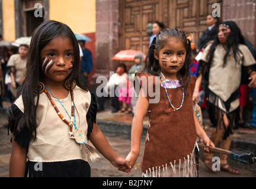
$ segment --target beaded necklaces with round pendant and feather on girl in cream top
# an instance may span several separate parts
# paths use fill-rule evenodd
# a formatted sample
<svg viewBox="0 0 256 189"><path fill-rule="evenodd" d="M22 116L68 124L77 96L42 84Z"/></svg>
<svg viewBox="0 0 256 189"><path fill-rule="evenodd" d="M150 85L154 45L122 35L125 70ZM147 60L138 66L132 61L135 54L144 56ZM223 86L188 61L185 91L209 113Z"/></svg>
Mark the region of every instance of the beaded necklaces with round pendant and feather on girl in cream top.
<svg viewBox="0 0 256 189"><path fill-rule="evenodd" d="M55 102L53 101L52 97L50 96L50 94L48 93L48 91L46 89L50 93L52 93L52 92L47 87L45 87L44 93L46 93L47 97L49 98L50 102L52 103L53 107L55 108L55 110L57 112L57 115L59 115L59 117L63 120L63 122L65 122L69 126L69 136L70 136L70 138L75 139L76 143L80 144L80 149L81 150L84 149L85 153L88 155L88 157L91 159L92 162L97 161L97 159L99 159L100 156L94 151L94 148L92 148L92 146L90 146L86 143L86 137L87 136L82 131L82 129L76 128L75 106L74 106L74 102L73 102L73 90L72 89L70 90L70 93L71 93L71 116L69 116L70 121L68 121L59 112L59 109L57 109L57 106L56 106ZM52 95L55 96L53 93L52 93ZM55 98L57 99L56 96L55 96ZM57 99L57 100L59 100L59 99ZM59 102L60 102L60 100L59 100ZM62 105L61 102L60 102L60 104ZM63 108L65 109L64 106L63 106ZM68 113L67 110L66 110L66 113ZM75 125L75 132L73 132L73 125Z"/></svg>

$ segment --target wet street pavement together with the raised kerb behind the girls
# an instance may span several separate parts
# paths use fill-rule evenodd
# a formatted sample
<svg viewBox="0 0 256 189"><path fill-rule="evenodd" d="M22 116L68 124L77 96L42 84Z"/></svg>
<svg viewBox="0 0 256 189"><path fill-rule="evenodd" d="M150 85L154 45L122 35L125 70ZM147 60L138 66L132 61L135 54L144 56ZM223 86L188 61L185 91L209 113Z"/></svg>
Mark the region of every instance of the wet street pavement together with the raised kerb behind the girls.
<svg viewBox="0 0 256 189"><path fill-rule="evenodd" d="M111 113L110 110L105 112L98 112L98 125L103 131L108 142L121 157L126 157L130 151L130 127L132 122L132 115L124 113ZM145 119L145 131L146 131ZM204 119L207 122L207 119ZM8 177L9 157L11 155L11 135L7 135L7 128L5 124L7 120L4 112L0 113L0 177ZM207 124L206 124L207 125ZM207 126L206 126L207 127ZM212 128L206 128L207 134L210 134ZM145 132L144 132L145 133ZM110 164L110 162L101 155L101 159L97 162L90 162L91 177L142 177L140 170L140 161L143 155L145 135L141 139L140 155L137 159L132 172L127 174L125 172L117 171L117 168ZM239 146L242 149L247 149L256 153L256 129L238 129L233 133L232 148ZM215 154L218 156L218 154ZM200 151L199 157L199 177L256 177L256 163L252 165L242 164L241 162L229 159L228 162L240 172L239 175L228 174L227 172L217 171L216 174L209 172L201 161L203 152Z"/></svg>

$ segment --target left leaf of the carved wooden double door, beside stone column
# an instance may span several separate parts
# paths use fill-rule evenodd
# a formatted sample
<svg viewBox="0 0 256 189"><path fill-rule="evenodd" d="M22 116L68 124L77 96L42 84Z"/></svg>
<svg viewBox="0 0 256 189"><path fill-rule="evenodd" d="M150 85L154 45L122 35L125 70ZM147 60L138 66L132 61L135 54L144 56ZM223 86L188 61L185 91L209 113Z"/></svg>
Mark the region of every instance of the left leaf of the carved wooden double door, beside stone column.
<svg viewBox="0 0 256 189"><path fill-rule="evenodd" d="M149 35L146 27L154 21L168 24L168 0L120 0L120 50L148 52Z"/></svg>

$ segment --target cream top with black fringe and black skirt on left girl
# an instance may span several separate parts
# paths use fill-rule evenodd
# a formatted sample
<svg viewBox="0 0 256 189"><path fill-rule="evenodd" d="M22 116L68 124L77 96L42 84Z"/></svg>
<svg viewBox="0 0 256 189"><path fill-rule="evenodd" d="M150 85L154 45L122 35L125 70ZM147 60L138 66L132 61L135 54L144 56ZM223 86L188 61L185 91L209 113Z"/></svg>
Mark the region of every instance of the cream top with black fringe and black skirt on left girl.
<svg viewBox="0 0 256 189"><path fill-rule="evenodd" d="M95 96L78 86L73 89L73 96L76 127L87 135L86 142L88 142L97 113ZM69 93L65 99L59 99L69 115L57 99L54 97L52 99L64 118L69 120L71 94ZM11 105L8 112L9 115L13 115L9 117L9 128L13 132L15 127L13 118L19 119L24 112L21 96ZM91 120L89 125L87 119ZM18 144L24 148L28 147L25 177L89 177L91 170L87 155L75 139L70 138L69 126L59 118L45 93L41 93L39 97L36 121L35 139L30 138L27 131L22 128L15 136ZM37 164L38 161L43 162L42 167Z"/></svg>

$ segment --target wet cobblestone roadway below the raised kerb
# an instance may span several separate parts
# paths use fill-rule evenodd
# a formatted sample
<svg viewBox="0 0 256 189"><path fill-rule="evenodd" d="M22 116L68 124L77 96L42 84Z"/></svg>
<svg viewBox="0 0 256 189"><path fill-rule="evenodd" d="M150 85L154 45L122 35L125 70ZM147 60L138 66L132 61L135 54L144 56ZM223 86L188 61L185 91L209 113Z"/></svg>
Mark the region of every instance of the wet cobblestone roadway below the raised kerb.
<svg viewBox="0 0 256 189"><path fill-rule="evenodd" d="M108 142L117 152L118 155L126 157L130 150L130 137L126 134L107 133L104 132ZM11 153L11 143L7 136L7 128L0 129L0 177L8 177L9 173L9 157ZM135 167L133 167L130 174L117 171L116 167L110 164L104 157L95 163L89 162L91 165L91 177L142 177L140 171L140 161L142 158L144 138L142 138L142 148L140 149L140 156L137 159ZM237 161L229 159L231 165L241 172L240 175L231 175L226 172L219 171L217 174L212 174L206 170L200 155L199 177L256 177L256 164L245 165Z"/></svg>

